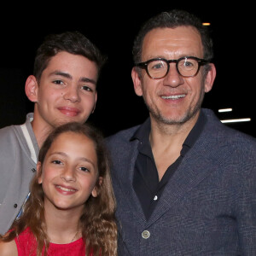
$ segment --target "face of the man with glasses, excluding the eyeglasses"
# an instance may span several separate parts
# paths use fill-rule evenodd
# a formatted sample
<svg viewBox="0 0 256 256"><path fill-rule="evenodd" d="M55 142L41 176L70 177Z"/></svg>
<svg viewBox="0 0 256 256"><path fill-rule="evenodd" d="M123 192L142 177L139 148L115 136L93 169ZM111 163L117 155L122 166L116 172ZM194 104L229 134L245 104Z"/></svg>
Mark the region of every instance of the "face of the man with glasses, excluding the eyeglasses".
<svg viewBox="0 0 256 256"><path fill-rule="evenodd" d="M142 61L177 60L183 56L203 58L201 36L191 26L154 29L143 40ZM135 91L143 96L150 117L164 124L183 124L196 118L204 93L212 89L212 79L209 83L202 76L203 67L195 77L183 78L175 65L170 63L169 73L163 79L150 79L145 70L141 76L135 69L132 71Z"/></svg>

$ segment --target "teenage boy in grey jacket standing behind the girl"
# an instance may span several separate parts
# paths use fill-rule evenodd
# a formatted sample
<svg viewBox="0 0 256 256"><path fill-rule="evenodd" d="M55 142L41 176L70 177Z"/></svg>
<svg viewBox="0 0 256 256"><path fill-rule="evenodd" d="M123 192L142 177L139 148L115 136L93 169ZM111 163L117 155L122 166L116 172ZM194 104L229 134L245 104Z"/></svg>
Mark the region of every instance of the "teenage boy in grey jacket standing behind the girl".
<svg viewBox="0 0 256 256"><path fill-rule="evenodd" d="M96 106L96 82L104 58L79 32L49 35L38 48L26 96L34 104L24 125L0 130L0 234L20 212L36 171L38 151L55 126L84 123Z"/></svg>

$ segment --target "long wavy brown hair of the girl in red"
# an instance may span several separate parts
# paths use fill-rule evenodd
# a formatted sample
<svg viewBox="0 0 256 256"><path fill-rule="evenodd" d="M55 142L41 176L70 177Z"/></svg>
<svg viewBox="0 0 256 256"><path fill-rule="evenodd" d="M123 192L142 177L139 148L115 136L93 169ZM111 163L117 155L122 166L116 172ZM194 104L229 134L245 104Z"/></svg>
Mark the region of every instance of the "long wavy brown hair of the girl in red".
<svg viewBox="0 0 256 256"><path fill-rule="evenodd" d="M102 133L88 124L68 123L61 125L52 131L45 140L40 149L38 160L43 166L45 155L56 137L68 131L84 134L84 136L94 142L97 155L98 177L102 177L102 183L96 183L97 197L90 195L90 198L84 203L84 211L79 220L79 228L82 230L86 248L85 255L90 255L90 253L102 256L117 255L117 226L114 218L115 200L109 173L110 161L108 150L105 147ZM12 241L29 227L37 241L38 256L42 255L43 251L44 255L46 255L49 247L49 237L46 233L44 218L44 191L42 184L38 183L40 175L41 171L39 170L32 179L30 186L31 195L26 201L21 217L15 220L11 231L6 236L1 237L2 241Z"/></svg>

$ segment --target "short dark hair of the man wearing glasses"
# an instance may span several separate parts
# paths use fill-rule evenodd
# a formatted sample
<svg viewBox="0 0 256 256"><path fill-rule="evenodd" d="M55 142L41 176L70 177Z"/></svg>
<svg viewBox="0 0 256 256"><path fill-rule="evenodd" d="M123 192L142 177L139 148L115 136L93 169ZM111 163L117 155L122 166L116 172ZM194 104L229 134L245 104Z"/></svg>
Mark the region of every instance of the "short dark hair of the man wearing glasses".
<svg viewBox="0 0 256 256"><path fill-rule="evenodd" d="M207 27L203 26L201 20L195 15L184 10L173 9L169 12L162 12L159 15L155 15L144 23L133 44L132 53L135 63L142 61L143 39L148 32L156 28L176 28L177 26L194 26L201 35L204 59L212 59L212 38L209 36Z"/></svg>

